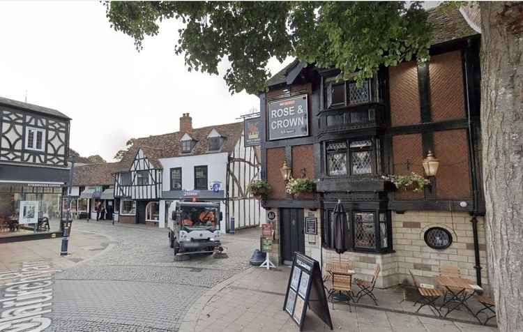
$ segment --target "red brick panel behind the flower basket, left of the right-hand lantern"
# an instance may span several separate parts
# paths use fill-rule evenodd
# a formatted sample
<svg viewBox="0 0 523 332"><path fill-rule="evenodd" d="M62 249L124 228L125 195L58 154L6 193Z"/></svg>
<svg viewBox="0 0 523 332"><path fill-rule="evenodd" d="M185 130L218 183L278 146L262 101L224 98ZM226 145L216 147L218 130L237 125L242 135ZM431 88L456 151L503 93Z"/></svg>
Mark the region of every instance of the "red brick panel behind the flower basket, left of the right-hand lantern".
<svg viewBox="0 0 523 332"><path fill-rule="evenodd" d="M425 175L422 164L421 134L393 136L393 163L394 174L406 175L416 172L421 176ZM423 191L416 193L398 189L395 193L395 199L423 199L423 197Z"/></svg>

